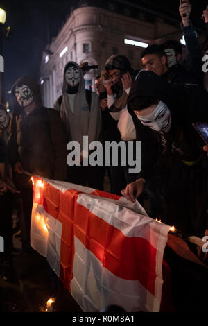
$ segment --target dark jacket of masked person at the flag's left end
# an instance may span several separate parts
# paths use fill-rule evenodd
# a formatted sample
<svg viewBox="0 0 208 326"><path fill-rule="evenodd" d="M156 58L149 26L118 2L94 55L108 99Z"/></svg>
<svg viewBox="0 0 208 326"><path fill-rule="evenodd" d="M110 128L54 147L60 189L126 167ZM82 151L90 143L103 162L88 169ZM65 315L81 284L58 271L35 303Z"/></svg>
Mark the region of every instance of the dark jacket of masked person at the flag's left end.
<svg viewBox="0 0 208 326"><path fill-rule="evenodd" d="M53 180L67 178L67 141L58 112L39 108L28 116L12 117L8 141L10 162L20 161L23 169Z"/></svg>

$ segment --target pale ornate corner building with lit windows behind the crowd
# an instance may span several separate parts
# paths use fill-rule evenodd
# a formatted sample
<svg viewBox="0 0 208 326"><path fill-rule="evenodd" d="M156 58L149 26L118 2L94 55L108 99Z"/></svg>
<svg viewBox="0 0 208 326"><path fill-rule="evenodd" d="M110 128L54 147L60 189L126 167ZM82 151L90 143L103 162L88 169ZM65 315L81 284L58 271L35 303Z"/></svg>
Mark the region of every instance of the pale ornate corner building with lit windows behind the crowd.
<svg viewBox="0 0 208 326"><path fill-rule="evenodd" d="M85 75L86 88L94 90L94 78L105 67L110 55L126 55L132 67L139 69L140 54L145 46L168 39L182 39L180 27L162 19L148 22L142 20L141 13L137 17L131 15L128 8L121 13L112 6L100 8L88 6L88 3L72 10L58 36L46 46L42 55L40 84L42 100L48 108L53 107L62 94L63 70L67 62L72 60L80 65L87 61L89 65L98 65L99 71ZM128 44L126 39L130 40ZM135 43L135 46L132 45L134 42L141 43Z"/></svg>

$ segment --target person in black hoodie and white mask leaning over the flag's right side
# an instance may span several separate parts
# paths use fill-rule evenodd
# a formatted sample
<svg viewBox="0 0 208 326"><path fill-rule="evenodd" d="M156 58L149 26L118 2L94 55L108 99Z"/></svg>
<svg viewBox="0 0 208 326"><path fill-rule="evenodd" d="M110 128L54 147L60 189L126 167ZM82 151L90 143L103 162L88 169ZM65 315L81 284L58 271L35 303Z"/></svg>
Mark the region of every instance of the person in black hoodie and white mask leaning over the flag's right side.
<svg viewBox="0 0 208 326"><path fill-rule="evenodd" d="M208 148L192 126L208 121L207 105L205 89L170 85L150 71L139 75L128 98L143 162L137 181L128 185L123 196L134 201L146 191L149 216L174 225L184 236L208 234ZM207 264L207 254L188 245ZM207 268L180 257L169 246L164 259L171 268L175 310L206 310Z"/></svg>

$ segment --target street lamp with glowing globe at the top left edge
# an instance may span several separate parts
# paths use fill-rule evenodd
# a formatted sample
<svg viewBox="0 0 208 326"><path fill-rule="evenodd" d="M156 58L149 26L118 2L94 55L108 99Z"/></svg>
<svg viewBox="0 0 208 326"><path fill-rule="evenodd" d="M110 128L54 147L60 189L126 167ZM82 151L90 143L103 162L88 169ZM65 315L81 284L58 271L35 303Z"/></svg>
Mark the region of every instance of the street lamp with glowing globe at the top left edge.
<svg viewBox="0 0 208 326"><path fill-rule="evenodd" d="M6 12L2 8L0 8L0 55L1 55L1 62L3 62L3 37L5 35L4 31L4 24L6 22ZM0 69L0 103L3 103L3 85L4 85L4 78L3 78L3 72L4 72L4 65L2 65L3 69ZM0 67L1 68L1 67Z"/></svg>

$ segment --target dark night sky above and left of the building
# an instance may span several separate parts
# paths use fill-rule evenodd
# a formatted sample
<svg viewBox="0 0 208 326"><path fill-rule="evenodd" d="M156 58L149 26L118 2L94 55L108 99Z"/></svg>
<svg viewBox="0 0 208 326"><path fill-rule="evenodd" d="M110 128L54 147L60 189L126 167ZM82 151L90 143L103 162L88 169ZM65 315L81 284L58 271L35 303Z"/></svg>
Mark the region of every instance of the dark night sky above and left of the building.
<svg viewBox="0 0 208 326"><path fill-rule="evenodd" d="M180 19L177 0L128 0L128 3L131 2L144 4L156 10L161 8L166 14ZM77 3L76 0L0 1L0 5L7 12L6 26L12 28L9 40L4 41L6 91L20 76L28 74L38 77L42 51L48 40L47 22L49 22L51 40L57 35L58 28L61 28L67 14L70 14L71 6L76 7ZM193 22L199 28L204 28L199 18L208 0L192 0L191 3L193 4Z"/></svg>

